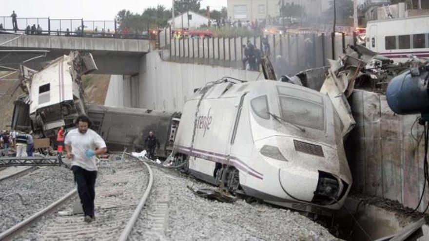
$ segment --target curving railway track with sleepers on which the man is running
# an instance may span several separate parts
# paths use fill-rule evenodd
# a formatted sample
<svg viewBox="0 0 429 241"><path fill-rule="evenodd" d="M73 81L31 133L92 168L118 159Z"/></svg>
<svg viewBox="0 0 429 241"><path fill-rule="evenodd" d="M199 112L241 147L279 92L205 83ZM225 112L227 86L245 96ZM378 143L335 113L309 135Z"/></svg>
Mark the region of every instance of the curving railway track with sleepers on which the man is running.
<svg viewBox="0 0 429 241"><path fill-rule="evenodd" d="M94 222L85 223L83 215L73 214L73 207L80 206L75 189L1 233L0 240L126 240L149 196L153 174L146 163L134 158L111 157L99 164ZM53 213L56 209L62 212Z"/></svg>

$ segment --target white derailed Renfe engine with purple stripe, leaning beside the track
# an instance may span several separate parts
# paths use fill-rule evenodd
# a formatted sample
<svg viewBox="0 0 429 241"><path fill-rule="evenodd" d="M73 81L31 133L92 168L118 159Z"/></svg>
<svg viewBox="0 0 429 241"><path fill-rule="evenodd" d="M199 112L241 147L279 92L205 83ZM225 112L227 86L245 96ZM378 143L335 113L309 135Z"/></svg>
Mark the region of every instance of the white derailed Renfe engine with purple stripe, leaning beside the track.
<svg viewBox="0 0 429 241"><path fill-rule="evenodd" d="M185 103L173 156L197 178L327 214L351 187L342 123L327 95L284 82L217 83Z"/></svg>

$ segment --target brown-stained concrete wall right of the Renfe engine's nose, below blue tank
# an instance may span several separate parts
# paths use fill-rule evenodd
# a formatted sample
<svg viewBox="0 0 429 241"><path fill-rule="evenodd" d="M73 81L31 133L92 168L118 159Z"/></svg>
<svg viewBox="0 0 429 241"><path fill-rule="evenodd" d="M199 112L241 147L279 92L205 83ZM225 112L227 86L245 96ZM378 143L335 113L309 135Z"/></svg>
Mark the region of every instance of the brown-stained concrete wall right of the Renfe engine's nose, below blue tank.
<svg viewBox="0 0 429 241"><path fill-rule="evenodd" d="M423 126L419 115L396 115L385 95L355 91L349 98L356 127L345 143L352 190L415 208L424 185ZM426 189L419 211L429 202Z"/></svg>

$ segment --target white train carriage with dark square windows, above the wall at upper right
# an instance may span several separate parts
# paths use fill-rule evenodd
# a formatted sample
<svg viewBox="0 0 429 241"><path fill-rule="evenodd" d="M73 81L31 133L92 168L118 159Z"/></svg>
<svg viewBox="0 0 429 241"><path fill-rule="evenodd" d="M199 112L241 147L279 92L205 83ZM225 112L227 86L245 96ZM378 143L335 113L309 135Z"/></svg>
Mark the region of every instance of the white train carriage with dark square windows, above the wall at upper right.
<svg viewBox="0 0 429 241"><path fill-rule="evenodd" d="M429 15L369 21L366 46L395 62L429 57Z"/></svg>

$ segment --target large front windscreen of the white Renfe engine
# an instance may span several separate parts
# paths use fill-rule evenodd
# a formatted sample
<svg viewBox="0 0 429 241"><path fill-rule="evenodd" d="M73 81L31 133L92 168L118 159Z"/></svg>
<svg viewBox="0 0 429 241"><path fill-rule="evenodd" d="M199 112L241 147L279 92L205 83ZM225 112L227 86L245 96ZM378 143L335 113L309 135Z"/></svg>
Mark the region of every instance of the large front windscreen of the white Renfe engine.
<svg viewBox="0 0 429 241"><path fill-rule="evenodd" d="M303 127L325 130L323 104L282 95L279 98L282 117L285 121Z"/></svg>

